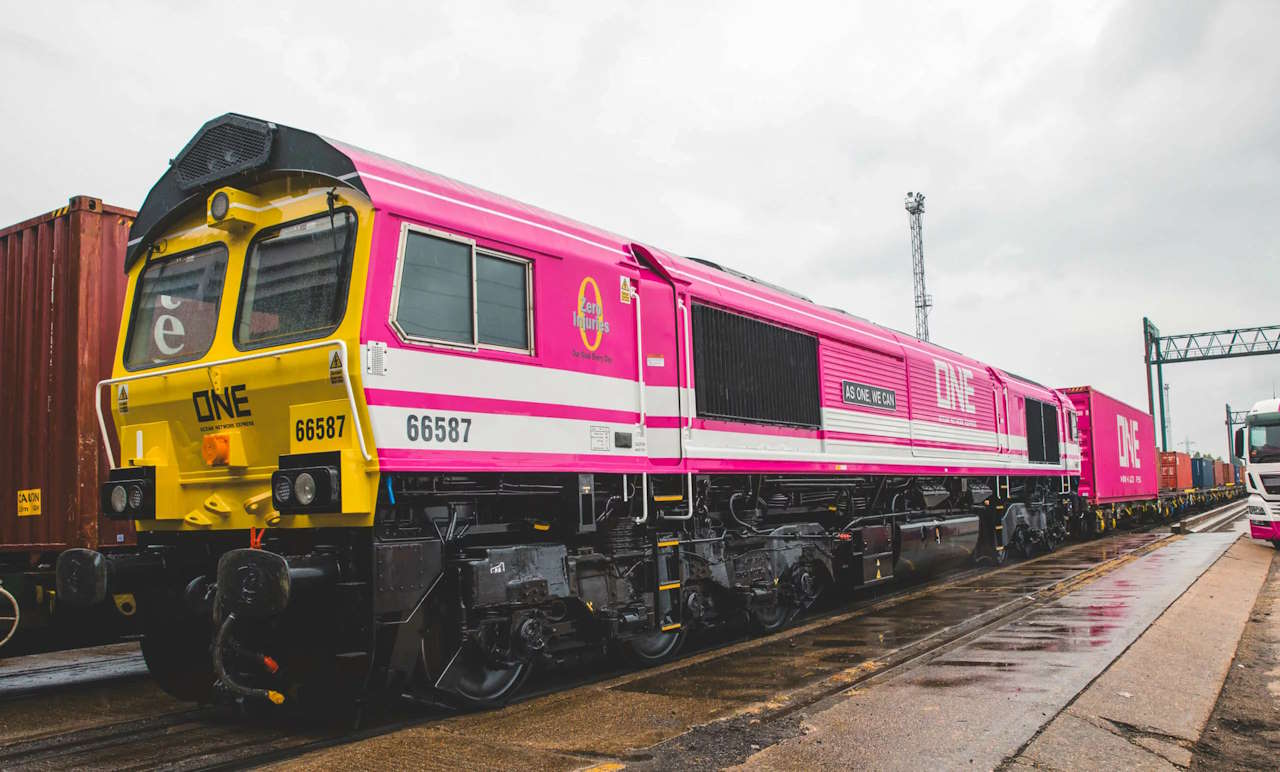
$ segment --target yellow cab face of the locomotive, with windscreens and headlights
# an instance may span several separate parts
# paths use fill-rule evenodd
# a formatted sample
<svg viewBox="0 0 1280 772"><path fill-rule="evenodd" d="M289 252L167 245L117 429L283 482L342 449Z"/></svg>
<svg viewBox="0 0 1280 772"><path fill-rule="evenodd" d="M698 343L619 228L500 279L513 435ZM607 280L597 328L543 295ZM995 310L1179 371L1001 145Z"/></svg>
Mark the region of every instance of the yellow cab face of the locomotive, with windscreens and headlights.
<svg viewBox="0 0 1280 772"><path fill-rule="evenodd" d="M109 516L165 533L370 525L351 352L371 220L357 191L291 175L219 188L155 239L102 384L119 443Z"/></svg>

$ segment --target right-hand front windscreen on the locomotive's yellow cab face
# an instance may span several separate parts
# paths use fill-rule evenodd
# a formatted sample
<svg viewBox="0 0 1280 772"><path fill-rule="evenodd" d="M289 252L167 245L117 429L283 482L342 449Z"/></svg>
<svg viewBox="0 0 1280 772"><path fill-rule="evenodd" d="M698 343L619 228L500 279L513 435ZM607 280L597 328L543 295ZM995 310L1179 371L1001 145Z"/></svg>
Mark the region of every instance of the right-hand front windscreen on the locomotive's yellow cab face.
<svg viewBox="0 0 1280 772"><path fill-rule="evenodd" d="M236 346L259 348L332 333L347 307L355 241L351 210L259 234L244 262Z"/></svg>

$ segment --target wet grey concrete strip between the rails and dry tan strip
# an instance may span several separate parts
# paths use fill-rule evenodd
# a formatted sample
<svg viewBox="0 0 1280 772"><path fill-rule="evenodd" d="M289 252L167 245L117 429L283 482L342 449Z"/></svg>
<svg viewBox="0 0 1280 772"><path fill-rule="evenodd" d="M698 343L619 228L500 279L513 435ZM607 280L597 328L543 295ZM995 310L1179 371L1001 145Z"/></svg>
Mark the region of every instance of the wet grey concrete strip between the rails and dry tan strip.
<svg viewBox="0 0 1280 772"><path fill-rule="evenodd" d="M748 768L993 768L1119 657L1238 534L1171 540L1079 589L841 694Z"/></svg>

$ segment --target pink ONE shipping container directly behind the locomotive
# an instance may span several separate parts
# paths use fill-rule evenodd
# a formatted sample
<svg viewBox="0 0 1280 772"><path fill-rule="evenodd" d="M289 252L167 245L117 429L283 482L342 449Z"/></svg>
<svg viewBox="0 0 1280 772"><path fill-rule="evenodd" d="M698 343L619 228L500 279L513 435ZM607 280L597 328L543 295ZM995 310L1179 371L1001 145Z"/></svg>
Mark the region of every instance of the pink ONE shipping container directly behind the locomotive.
<svg viewBox="0 0 1280 772"><path fill-rule="evenodd" d="M1080 495L1092 504L1157 498L1155 420L1093 387L1062 390L1079 412Z"/></svg>

